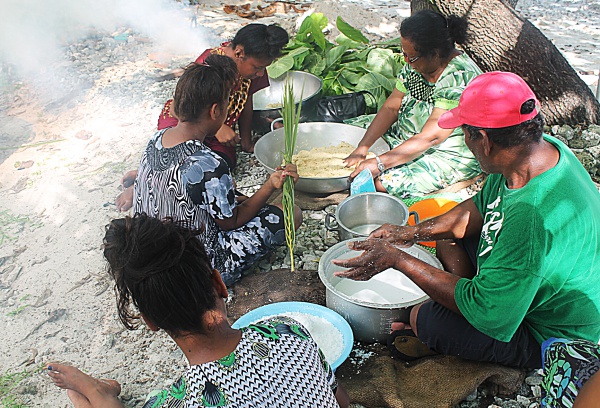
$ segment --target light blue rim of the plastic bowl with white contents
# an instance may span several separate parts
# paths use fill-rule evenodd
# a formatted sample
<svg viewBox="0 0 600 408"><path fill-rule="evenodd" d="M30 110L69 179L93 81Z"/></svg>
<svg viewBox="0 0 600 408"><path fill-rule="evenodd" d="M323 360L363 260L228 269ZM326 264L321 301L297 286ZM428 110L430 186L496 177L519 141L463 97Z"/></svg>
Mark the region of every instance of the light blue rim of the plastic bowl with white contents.
<svg viewBox="0 0 600 408"><path fill-rule="evenodd" d="M352 344L354 343L354 335L348 322L339 314L325 306L316 305L307 302L279 302L261 306L249 311L232 325L234 329L248 326L263 317L283 315L285 313L304 313L327 319L342 333L343 350L342 354L334 362L329 362L331 368L335 371L350 355Z"/></svg>

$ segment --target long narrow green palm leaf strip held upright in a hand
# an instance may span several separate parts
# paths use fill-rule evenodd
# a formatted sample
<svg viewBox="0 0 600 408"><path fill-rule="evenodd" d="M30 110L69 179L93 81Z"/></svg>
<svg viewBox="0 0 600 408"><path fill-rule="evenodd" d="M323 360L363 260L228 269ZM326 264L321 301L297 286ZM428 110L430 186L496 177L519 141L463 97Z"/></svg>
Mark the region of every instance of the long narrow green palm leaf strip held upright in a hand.
<svg viewBox="0 0 600 408"><path fill-rule="evenodd" d="M283 107L281 117L283 118L283 131L285 136L285 146L283 152L284 165L292 162L294 148L296 147L296 137L298 136L298 122L300 122L300 110L302 109L302 94L296 105L294 99L294 88L289 81L285 81L283 86ZM285 242L290 251L290 269L295 269L294 265L294 247L296 246L296 225L294 223L294 180L286 177L283 182L283 195L281 200L283 207L283 223L285 227Z"/></svg>

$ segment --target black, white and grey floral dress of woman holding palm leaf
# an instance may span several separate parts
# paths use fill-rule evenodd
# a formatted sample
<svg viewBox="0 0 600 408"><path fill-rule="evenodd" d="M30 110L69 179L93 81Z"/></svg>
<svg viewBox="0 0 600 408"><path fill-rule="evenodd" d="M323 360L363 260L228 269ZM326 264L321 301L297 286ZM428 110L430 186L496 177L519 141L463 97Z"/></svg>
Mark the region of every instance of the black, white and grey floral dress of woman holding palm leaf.
<svg viewBox="0 0 600 408"><path fill-rule="evenodd" d="M202 142L187 141L165 148L159 130L142 155L134 185L134 213L204 225L202 240L213 267L227 286L277 245L285 244L283 213L263 207L256 217L231 231L223 231L215 218L233 216L236 206L229 166Z"/></svg>

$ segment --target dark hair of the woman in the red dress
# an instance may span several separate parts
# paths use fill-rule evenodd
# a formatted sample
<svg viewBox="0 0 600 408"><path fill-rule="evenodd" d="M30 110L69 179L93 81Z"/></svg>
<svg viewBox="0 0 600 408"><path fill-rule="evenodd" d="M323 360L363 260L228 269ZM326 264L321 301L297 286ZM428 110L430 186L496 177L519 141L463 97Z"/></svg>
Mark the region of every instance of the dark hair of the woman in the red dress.
<svg viewBox="0 0 600 408"><path fill-rule="evenodd" d="M275 59L288 43L288 33L278 25L253 23L242 27L231 40L231 46L244 47L247 57Z"/></svg>

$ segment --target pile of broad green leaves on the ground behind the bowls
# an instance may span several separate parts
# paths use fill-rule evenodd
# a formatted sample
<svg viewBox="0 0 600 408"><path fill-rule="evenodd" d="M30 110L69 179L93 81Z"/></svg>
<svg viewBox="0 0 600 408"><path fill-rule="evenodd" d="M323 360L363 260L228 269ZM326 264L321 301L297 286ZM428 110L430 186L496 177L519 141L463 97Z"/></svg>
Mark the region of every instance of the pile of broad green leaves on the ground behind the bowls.
<svg viewBox="0 0 600 408"><path fill-rule="evenodd" d="M379 110L404 65L400 39L371 43L338 16L341 34L331 43L323 34L328 23L322 13L307 16L284 55L267 68L269 76L277 78L290 70L310 72L323 80L323 96L368 91L373 96L367 98L370 110Z"/></svg>

